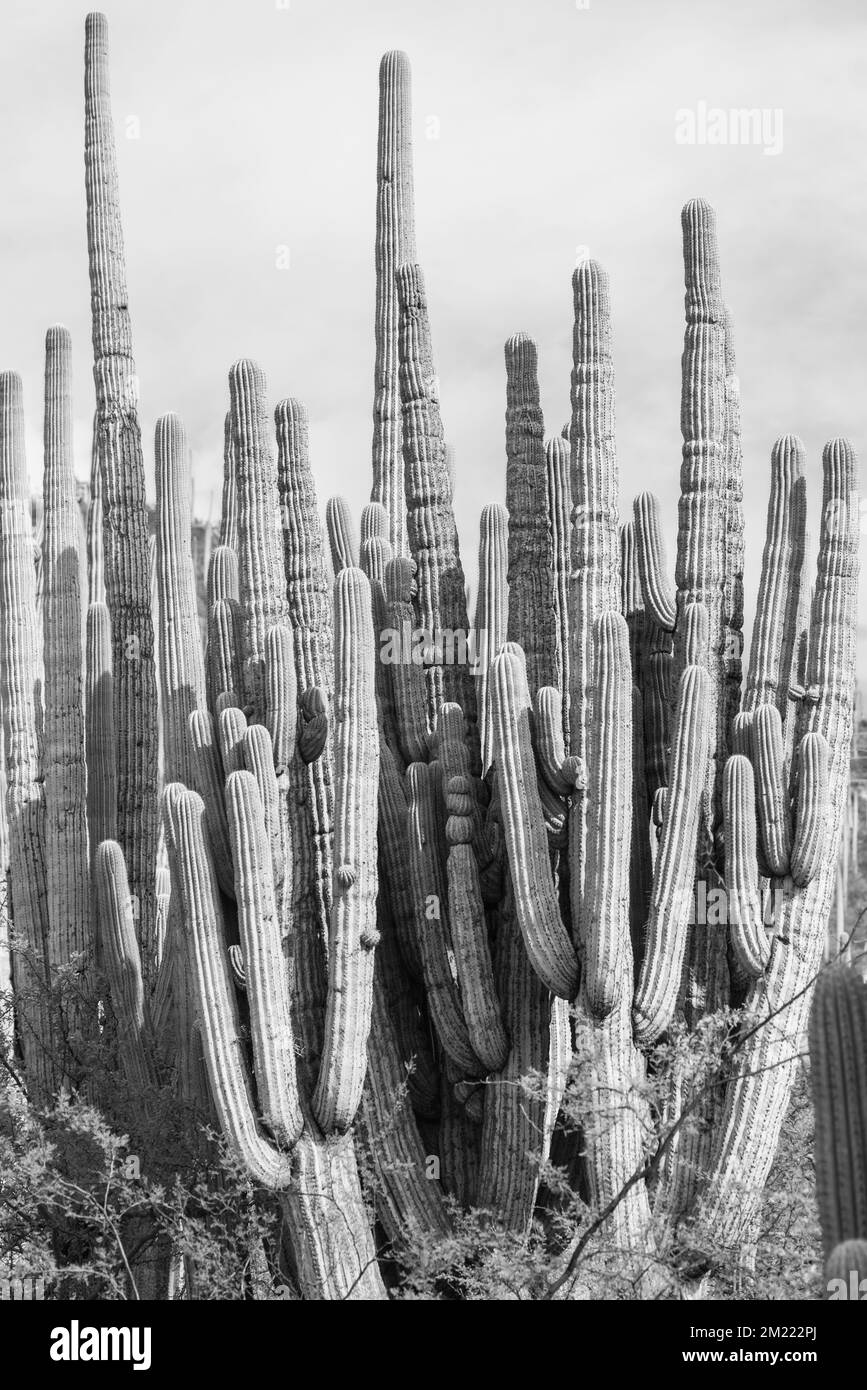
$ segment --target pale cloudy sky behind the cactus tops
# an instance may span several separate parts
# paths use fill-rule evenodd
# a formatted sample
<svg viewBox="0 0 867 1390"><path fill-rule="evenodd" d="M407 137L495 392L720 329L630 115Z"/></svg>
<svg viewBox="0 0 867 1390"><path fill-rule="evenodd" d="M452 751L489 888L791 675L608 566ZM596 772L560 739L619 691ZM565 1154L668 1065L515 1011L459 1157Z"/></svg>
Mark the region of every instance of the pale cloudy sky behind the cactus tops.
<svg viewBox="0 0 867 1390"><path fill-rule="evenodd" d="M86 10L1 3L0 367L24 375L35 477L43 336L58 321L74 335L78 470L89 470ZM624 509L641 488L660 495L674 563L679 208L702 195L718 213L738 334L752 612L774 438L795 431L807 445L811 517L824 441L848 434L867 453L863 0L125 0L106 11L150 474L154 420L175 410L195 449L197 512L213 498L217 520L226 371L254 356L272 402L308 404L322 505L336 491L356 512L367 500L377 72L402 47L468 571L479 509L504 492L511 332L539 343L549 432L567 418L578 247L611 274ZM702 101L781 111L779 153L677 143L675 113Z"/></svg>

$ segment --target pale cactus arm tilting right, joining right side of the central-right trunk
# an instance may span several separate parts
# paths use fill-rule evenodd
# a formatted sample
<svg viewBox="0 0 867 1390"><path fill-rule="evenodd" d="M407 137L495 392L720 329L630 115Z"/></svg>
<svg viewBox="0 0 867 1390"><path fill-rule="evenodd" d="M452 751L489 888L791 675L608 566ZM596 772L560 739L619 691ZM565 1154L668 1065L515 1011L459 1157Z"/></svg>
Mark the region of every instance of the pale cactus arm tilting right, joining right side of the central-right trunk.
<svg viewBox="0 0 867 1390"><path fill-rule="evenodd" d="M704 769L710 756L709 687L710 677L703 667L686 667L681 678L645 959L632 1005L635 1038L642 1045L656 1042L670 1026L678 997L695 876L689 851L699 833Z"/></svg>

